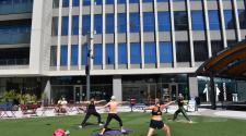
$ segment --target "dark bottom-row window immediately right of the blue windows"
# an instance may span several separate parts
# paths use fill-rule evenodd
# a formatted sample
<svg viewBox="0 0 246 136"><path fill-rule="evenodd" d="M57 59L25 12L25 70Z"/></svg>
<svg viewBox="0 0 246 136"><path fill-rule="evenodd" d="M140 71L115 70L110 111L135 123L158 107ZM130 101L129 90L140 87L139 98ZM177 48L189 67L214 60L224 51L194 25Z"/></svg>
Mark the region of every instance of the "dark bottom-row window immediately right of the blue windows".
<svg viewBox="0 0 246 136"><path fill-rule="evenodd" d="M190 62L190 48L188 41L176 42L177 62Z"/></svg>

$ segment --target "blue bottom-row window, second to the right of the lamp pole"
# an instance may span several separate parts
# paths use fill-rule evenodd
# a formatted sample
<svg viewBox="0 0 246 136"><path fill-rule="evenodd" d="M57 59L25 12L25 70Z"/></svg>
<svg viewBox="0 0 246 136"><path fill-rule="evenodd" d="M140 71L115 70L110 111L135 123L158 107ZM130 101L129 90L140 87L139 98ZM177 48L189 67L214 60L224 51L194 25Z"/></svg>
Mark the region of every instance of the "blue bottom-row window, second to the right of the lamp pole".
<svg viewBox="0 0 246 136"><path fill-rule="evenodd" d="M106 64L115 63L115 44L106 44Z"/></svg>

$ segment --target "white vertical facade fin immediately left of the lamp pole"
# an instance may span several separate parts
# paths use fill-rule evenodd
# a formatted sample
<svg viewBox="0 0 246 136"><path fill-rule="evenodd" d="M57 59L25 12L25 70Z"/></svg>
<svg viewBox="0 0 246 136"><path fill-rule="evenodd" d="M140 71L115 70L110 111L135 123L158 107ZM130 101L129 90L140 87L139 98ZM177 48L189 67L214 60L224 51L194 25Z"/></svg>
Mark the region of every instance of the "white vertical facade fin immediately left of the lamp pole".
<svg viewBox="0 0 246 136"><path fill-rule="evenodd" d="M79 64L79 71L81 70L81 61L82 61L82 14L83 14L83 0L80 0L80 15L79 15L79 59L78 59L78 64Z"/></svg>

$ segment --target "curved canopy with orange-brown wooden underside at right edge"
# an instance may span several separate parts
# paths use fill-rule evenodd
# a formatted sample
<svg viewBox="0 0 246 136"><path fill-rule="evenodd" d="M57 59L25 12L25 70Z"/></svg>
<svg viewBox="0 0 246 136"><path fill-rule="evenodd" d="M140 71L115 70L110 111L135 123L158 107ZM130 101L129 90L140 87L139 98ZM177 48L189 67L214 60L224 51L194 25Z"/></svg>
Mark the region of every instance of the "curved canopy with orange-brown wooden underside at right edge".
<svg viewBox="0 0 246 136"><path fill-rule="evenodd" d="M206 61L196 73L199 76L246 78L246 41L222 50Z"/></svg>

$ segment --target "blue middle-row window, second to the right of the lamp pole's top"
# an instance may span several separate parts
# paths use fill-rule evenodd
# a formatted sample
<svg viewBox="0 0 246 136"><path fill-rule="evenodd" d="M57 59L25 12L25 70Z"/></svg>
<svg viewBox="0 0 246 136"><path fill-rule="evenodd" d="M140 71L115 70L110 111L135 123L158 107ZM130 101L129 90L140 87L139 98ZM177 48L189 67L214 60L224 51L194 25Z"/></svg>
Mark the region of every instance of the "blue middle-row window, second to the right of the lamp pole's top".
<svg viewBox="0 0 246 136"><path fill-rule="evenodd" d="M106 34L115 33L115 15L113 13L106 14Z"/></svg>

